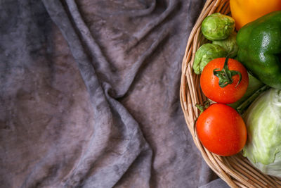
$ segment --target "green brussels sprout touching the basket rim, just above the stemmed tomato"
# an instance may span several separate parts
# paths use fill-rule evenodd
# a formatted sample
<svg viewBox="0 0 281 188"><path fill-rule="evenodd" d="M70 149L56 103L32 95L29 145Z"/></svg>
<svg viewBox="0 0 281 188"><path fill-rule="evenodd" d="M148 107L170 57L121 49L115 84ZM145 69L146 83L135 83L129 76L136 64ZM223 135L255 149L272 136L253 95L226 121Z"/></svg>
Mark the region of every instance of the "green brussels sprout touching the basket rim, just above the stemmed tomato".
<svg viewBox="0 0 281 188"><path fill-rule="evenodd" d="M203 44L195 53L195 59L193 63L193 70L195 74L199 75L202 73L203 68L209 61L215 58L226 57L228 53L223 47L218 44Z"/></svg>

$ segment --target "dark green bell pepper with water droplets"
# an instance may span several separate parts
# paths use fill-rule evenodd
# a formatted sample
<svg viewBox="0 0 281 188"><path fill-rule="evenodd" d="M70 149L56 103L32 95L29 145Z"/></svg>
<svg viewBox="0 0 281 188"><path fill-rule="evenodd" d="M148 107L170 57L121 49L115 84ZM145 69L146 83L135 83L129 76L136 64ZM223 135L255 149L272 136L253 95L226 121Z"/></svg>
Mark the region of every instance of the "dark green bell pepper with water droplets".
<svg viewBox="0 0 281 188"><path fill-rule="evenodd" d="M238 61L264 84L281 89L281 11L242 27L237 44Z"/></svg>

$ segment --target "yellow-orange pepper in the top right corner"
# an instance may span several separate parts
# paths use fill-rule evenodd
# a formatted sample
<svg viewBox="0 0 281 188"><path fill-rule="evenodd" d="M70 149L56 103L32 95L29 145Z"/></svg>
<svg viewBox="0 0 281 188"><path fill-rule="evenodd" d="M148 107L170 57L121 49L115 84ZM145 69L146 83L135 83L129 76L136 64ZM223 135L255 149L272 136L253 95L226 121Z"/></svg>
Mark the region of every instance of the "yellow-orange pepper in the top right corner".
<svg viewBox="0 0 281 188"><path fill-rule="evenodd" d="M237 30L263 15L280 10L280 0L230 0L230 11Z"/></svg>

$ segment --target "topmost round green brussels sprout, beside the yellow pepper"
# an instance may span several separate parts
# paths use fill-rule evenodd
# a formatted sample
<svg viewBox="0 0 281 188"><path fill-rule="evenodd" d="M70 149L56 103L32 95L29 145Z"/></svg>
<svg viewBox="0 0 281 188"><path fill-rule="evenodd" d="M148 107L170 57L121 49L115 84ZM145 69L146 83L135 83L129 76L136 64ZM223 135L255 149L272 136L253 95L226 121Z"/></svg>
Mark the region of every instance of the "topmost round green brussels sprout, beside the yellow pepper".
<svg viewBox="0 0 281 188"><path fill-rule="evenodd" d="M201 25L204 37L213 40L226 39L235 29L235 20L228 15L213 13L207 16Z"/></svg>

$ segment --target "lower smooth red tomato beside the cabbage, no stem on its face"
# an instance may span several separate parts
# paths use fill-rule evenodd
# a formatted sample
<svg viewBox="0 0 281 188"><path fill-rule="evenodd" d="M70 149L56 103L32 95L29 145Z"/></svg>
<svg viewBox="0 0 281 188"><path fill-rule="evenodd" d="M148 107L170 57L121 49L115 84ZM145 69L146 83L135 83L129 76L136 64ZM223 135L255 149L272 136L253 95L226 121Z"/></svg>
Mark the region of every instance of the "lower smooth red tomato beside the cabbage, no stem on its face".
<svg viewBox="0 0 281 188"><path fill-rule="evenodd" d="M196 122L197 136L203 146L220 156L232 156L244 147L247 129L234 108L211 104Z"/></svg>

